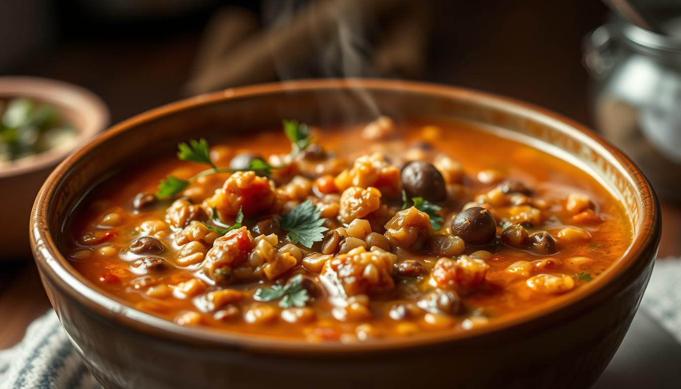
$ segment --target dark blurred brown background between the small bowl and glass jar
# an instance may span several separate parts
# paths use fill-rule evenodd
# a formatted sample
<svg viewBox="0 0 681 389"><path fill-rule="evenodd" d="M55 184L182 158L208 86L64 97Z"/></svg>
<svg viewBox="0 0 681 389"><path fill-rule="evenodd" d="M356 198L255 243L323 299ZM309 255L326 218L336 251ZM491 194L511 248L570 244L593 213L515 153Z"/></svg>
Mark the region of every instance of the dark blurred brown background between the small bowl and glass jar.
<svg viewBox="0 0 681 389"><path fill-rule="evenodd" d="M195 93L322 76L456 84L589 123L582 38L605 19L593 0L3 0L0 72L90 89L112 123Z"/></svg>

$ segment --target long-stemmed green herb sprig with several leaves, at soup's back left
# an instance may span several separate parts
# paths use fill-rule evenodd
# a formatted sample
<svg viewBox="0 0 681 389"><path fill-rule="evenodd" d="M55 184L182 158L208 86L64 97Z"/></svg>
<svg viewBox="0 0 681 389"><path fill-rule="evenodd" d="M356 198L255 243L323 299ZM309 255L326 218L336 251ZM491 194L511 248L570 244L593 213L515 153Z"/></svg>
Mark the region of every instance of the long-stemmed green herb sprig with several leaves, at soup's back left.
<svg viewBox="0 0 681 389"><path fill-rule="evenodd" d="M296 156L305 149L307 149L310 144L312 144L312 139L310 136L310 129L307 125L303 123L298 123L298 121L283 121L284 134L291 141L291 152L286 155L285 162L281 165L271 165L263 159L253 159L249 164L248 168L245 169L230 169L230 168L218 168L210 160L210 147L208 146L208 141L205 139L200 140L189 140L189 143L178 144L177 156L182 161L196 162L197 164L204 164L210 166L210 169L204 170L195 176L183 180L177 178L176 176L168 176L165 180L159 183L159 189L156 192L157 198L172 198L177 196L180 191L183 191L189 184L193 183L197 179L210 176L210 174L216 173L226 173L226 172L265 172L270 173L272 170L283 169L291 164Z"/></svg>

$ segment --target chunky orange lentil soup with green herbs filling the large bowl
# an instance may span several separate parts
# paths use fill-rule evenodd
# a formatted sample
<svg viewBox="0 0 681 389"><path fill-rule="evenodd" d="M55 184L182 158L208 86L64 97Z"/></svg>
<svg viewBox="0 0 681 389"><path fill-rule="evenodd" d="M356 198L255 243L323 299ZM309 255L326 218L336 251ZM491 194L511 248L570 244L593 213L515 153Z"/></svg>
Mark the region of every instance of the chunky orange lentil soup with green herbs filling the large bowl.
<svg viewBox="0 0 681 389"><path fill-rule="evenodd" d="M472 123L284 127L116 174L77 206L65 255L183 326L347 343L530 311L631 245L595 178Z"/></svg>

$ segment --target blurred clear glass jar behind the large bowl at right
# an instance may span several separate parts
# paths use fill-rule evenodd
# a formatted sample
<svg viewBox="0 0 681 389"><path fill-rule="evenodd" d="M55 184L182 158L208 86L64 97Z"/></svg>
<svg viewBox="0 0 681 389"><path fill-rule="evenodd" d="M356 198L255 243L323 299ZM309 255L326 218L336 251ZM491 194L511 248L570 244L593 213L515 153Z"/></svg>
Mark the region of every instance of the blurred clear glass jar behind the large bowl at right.
<svg viewBox="0 0 681 389"><path fill-rule="evenodd" d="M627 153L658 196L681 200L681 18L659 35L616 19L586 37L597 129ZM674 37L676 36L676 37Z"/></svg>

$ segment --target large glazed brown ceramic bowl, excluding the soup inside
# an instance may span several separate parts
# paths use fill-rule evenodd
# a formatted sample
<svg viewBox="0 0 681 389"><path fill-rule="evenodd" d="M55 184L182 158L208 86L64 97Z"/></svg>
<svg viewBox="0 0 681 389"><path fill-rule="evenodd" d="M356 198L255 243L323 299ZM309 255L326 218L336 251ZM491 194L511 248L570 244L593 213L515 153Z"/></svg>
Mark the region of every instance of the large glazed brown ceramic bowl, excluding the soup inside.
<svg viewBox="0 0 681 389"><path fill-rule="evenodd" d="M368 104L373 102L373 104ZM101 177L177 140L273 126L395 118L467 119L588 170L626 205L633 243L603 275L548 305L469 332L377 343L304 343L187 328L101 293L59 252L61 226ZM212 132L211 132L212 131ZM509 161L513 163L513 161ZM646 178L582 126L484 93L389 80L311 80L229 89L163 106L116 125L67 158L31 217L35 258L52 305L87 367L106 388L417 388L590 386L605 369L648 283L661 221Z"/></svg>

